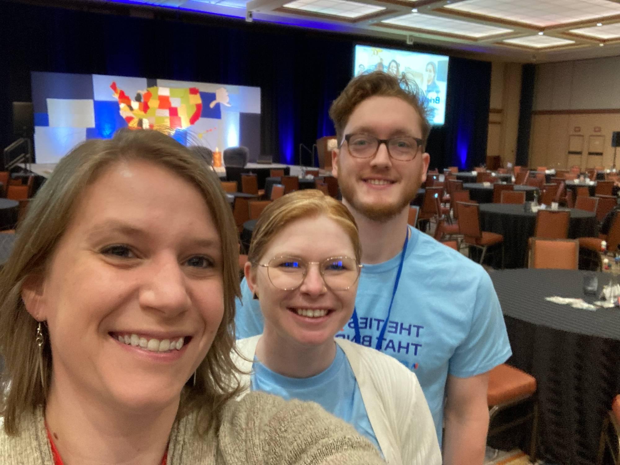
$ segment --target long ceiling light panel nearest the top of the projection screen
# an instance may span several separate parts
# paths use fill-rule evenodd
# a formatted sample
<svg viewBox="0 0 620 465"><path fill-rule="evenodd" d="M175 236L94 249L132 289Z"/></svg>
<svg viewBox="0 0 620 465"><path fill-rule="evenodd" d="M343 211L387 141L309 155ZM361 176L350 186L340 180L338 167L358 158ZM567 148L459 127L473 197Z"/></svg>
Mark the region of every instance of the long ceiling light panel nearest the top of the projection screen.
<svg viewBox="0 0 620 465"><path fill-rule="evenodd" d="M503 27L487 26L475 22L449 19L443 16L433 16L421 13L411 13L382 21L386 24L394 24L403 27L428 30L432 32L444 32L449 34L464 35L466 37L481 38L490 35L512 32Z"/></svg>

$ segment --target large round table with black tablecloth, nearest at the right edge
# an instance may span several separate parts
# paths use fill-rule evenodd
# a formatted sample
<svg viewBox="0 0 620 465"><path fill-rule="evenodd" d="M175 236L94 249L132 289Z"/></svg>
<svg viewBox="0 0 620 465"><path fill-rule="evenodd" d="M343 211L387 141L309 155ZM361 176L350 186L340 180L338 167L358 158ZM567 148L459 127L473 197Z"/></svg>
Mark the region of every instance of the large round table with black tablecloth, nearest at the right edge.
<svg viewBox="0 0 620 465"><path fill-rule="evenodd" d="M578 310L544 300L597 300L598 293L583 293L588 273L598 276L599 292L609 283L608 273L576 270L489 274L513 351L508 363L536 378L538 455L553 464L595 463L603 418L620 393L620 309Z"/></svg>

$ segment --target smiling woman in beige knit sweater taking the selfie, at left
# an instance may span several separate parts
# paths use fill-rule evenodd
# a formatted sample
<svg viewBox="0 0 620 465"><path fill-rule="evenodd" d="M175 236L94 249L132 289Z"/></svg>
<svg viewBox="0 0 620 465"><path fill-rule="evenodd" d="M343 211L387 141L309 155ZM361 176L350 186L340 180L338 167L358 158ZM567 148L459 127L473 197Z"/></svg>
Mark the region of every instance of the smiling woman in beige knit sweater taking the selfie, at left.
<svg viewBox="0 0 620 465"><path fill-rule="evenodd" d="M317 406L232 400L234 231L216 176L164 134L66 155L0 274L0 463L379 463Z"/></svg>

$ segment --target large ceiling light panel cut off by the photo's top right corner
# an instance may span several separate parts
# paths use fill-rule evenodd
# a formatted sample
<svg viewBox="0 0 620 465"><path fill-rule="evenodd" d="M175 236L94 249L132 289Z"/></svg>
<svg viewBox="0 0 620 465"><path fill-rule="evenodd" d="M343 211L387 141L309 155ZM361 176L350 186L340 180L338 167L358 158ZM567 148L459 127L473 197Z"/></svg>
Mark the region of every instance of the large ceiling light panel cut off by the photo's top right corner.
<svg viewBox="0 0 620 465"><path fill-rule="evenodd" d="M620 15L620 4L608 0L465 0L445 7L540 27Z"/></svg>

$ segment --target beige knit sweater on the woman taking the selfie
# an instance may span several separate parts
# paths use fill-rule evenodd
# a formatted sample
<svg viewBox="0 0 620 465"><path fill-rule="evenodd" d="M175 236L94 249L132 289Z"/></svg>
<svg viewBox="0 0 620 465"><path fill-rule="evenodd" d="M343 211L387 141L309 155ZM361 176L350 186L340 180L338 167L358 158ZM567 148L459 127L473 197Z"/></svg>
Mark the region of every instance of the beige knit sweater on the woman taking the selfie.
<svg viewBox="0 0 620 465"><path fill-rule="evenodd" d="M217 435L199 438L187 415L170 432L168 465L379 465L369 441L312 402L250 393L224 407ZM43 412L24 417L19 437L0 428L0 464L53 465Z"/></svg>

